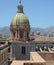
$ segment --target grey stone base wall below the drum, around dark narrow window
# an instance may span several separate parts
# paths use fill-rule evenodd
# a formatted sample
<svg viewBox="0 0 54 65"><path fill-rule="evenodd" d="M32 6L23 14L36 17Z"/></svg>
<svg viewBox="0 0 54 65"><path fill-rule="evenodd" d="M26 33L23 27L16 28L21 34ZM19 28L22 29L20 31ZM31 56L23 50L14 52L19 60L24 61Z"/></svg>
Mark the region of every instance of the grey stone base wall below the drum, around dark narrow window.
<svg viewBox="0 0 54 65"><path fill-rule="evenodd" d="M12 43L11 44L12 59L29 60L30 52L35 50L35 45L30 43ZM25 47L25 54L22 54L22 47Z"/></svg>

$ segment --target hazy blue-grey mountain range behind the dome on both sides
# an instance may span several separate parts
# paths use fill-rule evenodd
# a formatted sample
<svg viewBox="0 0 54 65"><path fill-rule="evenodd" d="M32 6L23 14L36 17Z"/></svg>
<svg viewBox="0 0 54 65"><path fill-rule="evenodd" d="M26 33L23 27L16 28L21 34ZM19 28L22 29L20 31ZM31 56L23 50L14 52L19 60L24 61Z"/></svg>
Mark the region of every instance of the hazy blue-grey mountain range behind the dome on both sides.
<svg viewBox="0 0 54 65"><path fill-rule="evenodd" d="M40 31L41 34L52 34L54 35L54 27L48 27L48 28L35 28L31 27L31 32L36 33L37 31ZM0 34L9 36L10 34L10 28L8 26L0 27Z"/></svg>

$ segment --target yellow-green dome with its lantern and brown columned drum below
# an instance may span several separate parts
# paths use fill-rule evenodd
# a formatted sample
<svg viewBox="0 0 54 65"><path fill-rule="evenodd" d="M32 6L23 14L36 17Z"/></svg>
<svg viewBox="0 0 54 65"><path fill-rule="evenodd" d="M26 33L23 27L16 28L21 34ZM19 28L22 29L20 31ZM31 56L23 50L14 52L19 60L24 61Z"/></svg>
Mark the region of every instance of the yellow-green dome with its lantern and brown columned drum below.
<svg viewBox="0 0 54 65"><path fill-rule="evenodd" d="M15 16L13 17L10 24L10 39L12 41L28 41L29 40L29 32L30 32L30 24L29 19L24 14L23 5L21 4L21 0L19 5L17 6L18 10Z"/></svg>

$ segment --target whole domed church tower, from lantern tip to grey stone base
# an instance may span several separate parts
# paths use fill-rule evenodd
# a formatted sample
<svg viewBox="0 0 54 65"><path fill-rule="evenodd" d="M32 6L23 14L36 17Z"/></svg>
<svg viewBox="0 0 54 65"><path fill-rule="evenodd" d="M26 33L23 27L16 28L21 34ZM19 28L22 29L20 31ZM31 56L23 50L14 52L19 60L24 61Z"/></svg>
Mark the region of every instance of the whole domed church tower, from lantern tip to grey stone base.
<svg viewBox="0 0 54 65"><path fill-rule="evenodd" d="M30 42L30 24L24 14L21 1L17 6L18 11L10 24L11 57L16 60L27 60L31 51L35 50L35 44Z"/></svg>

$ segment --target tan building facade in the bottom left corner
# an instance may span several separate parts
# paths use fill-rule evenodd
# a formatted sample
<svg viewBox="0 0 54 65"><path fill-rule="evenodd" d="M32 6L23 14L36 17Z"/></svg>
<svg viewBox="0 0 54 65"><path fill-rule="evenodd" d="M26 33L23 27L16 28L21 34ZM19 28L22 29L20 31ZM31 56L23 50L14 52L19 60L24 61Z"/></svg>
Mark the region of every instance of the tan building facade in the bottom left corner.
<svg viewBox="0 0 54 65"><path fill-rule="evenodd" d="M8 65L8 47L0 48L0 65Z"/></svg>

